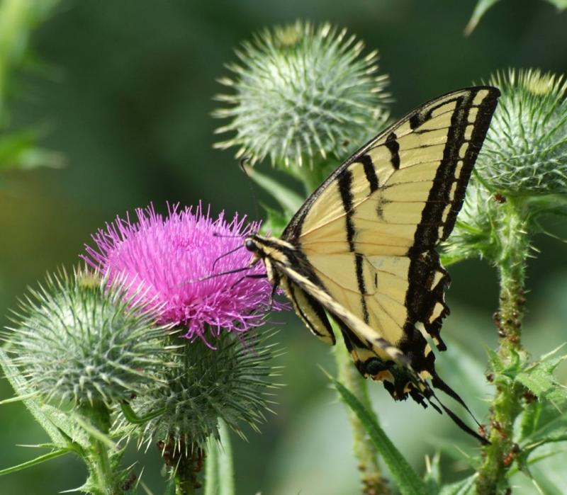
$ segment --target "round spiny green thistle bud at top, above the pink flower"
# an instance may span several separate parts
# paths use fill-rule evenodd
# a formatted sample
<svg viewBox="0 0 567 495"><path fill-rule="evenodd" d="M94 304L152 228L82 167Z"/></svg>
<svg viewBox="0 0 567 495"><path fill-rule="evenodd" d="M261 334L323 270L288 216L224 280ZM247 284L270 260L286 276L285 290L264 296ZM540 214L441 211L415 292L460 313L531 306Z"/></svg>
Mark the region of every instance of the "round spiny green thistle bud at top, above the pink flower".
<svg viewBox="0 0 567 495"><path fill-rule="evenodd" d="M297 21L264 30L237 50L232 78L220 79L231 94L213 115L231 121L231 132L215 147L238 147L237 158L252 164L313 164L327 154L344 157L385 123L388 77L378 75L378 52L360 57L364 43L330 24L315 28Z"/></svg>

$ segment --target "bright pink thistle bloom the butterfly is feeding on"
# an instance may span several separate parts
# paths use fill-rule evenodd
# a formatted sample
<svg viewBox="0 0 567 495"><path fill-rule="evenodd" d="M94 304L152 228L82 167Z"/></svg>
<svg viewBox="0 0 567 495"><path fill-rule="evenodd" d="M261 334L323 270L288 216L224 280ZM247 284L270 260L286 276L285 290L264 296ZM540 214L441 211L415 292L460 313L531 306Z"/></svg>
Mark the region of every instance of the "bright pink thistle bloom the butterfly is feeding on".
<svg viewBox="0 0 567 495"><path fill-rule="evenodd" d="M116 217L93 235L96 247L86 246L86 263L111 279L125 277L127 284L141 280L147 285L147 300L163 308L160 323L186 327L186 338L206 341L207 329L218 336L221 329L247 331L263 323L271 283L247 276L265 274L262 263L210 276L249 265L249 252L237 248L259 224L245 225L245 217L237 215L228 222L222 212L212 220L201 205L181 211L178 205L169 207L165 218L153 205L135 212L137 222L128 215L125 220ZM130 285L132 290L136 285ZM271 309L282 307L275 303Z"/></svg>

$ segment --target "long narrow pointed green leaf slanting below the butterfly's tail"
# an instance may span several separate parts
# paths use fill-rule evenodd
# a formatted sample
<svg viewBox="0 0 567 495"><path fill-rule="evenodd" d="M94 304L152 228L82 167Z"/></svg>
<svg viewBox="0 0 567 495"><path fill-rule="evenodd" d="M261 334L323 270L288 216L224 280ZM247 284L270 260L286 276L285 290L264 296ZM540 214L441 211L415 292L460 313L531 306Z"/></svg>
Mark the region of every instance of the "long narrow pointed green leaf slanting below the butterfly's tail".
<svg viewBox="0 0 567 495"><path fill-rule="evenodd" d="M364 407L357 397L349 392L340 382L330 377L334 383L337 392L341 395L344 402L354 411L361 421L366 433L372 443L374 443L376 450L382 455L384 462L388 466L395 484L397 485L402 495L425 495L430 494L425 482L422 482L416 472L412 470L408 461L405 460L400 451L395 448L390 438L378 425L376 418Z"/></svg>

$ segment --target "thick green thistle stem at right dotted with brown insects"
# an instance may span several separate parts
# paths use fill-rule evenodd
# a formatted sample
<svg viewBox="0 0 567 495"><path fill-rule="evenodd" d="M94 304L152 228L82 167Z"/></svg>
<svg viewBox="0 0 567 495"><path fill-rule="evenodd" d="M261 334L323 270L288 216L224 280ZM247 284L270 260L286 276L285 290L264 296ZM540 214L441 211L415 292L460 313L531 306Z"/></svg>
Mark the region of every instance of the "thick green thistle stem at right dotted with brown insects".
<svg viewBox="0 0 567 495"><path fill-rule="evenodd" d="M527 212L522 203L508 200L505 207L499 226L502 256L497 261L500 308L495 314L499 343L497 362L493 363L496 393L490 406L490 445L483 448L477 495L501 494L508 488L506 472L509 466L505 464L505 458L512 449L514 421L522 411L522 389L510 374L518 368L519 360L525 360L520 337L529 236Z"/></svg>

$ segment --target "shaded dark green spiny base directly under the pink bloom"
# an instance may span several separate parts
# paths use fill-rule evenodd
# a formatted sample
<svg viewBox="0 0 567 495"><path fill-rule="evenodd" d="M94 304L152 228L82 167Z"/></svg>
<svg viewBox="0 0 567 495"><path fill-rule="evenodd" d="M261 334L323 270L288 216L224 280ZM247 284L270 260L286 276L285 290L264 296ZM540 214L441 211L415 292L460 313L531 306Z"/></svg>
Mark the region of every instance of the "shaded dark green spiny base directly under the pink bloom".
<svg viewBox="0 0 567 495"><path fill-rule="evenodd" d="M164 370L162 382L142 391L130 407L137 416L153 416L143 431L120 416L116 431L140 438L164 441L176 452L203 448L210 436L218 438L218 420L242 435L240 425L257 430L269 407L275 375L271 360L276 344L266 344L256 331L223 332L215 348L196 338L184 343L175 355L176 366Z"/></svg>

